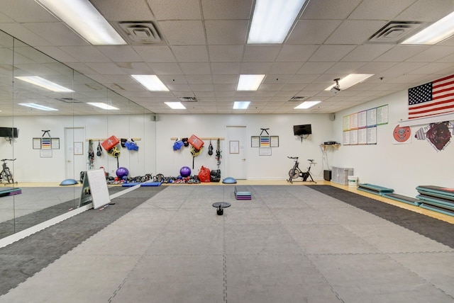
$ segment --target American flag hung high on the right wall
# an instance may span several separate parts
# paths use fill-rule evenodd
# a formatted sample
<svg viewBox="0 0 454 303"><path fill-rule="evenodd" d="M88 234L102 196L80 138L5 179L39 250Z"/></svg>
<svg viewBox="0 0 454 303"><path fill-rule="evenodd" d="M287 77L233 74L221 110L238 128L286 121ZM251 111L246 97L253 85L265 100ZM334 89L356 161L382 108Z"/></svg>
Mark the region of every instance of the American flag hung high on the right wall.
<svg viewBox="0 0 454 303"><path fill-rule="evenodd" d="M409 88L409 119L454 112L454 75Z"/></svg>

